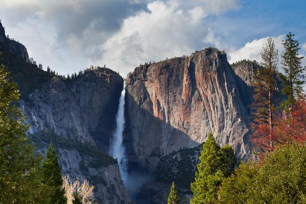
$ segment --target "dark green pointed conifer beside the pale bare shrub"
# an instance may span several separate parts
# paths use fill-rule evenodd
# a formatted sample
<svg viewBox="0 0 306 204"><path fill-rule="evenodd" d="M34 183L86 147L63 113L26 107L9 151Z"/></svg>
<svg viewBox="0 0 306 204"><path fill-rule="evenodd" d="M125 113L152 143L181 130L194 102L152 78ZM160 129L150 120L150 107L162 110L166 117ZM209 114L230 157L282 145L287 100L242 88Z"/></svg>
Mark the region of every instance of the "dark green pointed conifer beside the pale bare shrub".
<svg viewBox="0 0 306 204"><path fill-rule="evenodd" d="M49 188L52 204L66 203L65 190L62 187L63 179L61 169L58 164L58 157L53 144L50 144L46 160L42 166L43 183Z"/></svg>

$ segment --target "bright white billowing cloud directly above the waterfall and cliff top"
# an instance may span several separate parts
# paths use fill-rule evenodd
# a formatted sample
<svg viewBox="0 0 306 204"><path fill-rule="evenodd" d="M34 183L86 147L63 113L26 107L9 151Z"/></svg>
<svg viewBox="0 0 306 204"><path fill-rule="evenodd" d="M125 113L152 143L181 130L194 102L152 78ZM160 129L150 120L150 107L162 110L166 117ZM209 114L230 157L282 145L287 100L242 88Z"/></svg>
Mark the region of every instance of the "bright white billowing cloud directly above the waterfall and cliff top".
<svg viewBox="0 0 306 204"><path fill-rule="evenodd" d="M156 1L149 12L126 19L121 30L101 46L107 62L125 76L140 63L190 54L218 44L212 31L199 18L177 10L177 5Z"/></svg>

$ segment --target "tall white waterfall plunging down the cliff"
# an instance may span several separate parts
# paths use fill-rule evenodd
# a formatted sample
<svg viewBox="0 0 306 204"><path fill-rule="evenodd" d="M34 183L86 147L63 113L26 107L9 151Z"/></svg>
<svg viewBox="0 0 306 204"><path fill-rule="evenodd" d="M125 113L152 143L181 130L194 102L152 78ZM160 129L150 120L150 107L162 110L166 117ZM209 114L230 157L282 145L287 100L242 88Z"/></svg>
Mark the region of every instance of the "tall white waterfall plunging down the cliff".
<svg viewBox="0 0 306 204"><path fill-rule="evenodd" d="M125 96L125 84L123 90L121 92L120 100L119 100L119 107L118 112L116 115L116 130L113 133L113 138L111 141L110 147L110 155L113 158L117 158L119 164L119 170L121 174L121 178L123 182L126 184L127 182L127 159L125 157L125 146L123 145L123 130L125 125L125 118L124 118L124 96Z"/></svg>

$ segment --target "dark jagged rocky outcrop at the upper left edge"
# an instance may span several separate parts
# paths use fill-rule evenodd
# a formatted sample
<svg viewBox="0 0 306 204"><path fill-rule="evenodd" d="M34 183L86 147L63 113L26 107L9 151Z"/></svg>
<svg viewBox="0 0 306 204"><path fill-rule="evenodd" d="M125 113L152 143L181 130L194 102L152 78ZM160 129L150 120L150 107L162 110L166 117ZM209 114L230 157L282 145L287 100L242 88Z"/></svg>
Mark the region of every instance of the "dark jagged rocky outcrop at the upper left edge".
<svg viewBox="0 0 306 204"><path fill-rule="evenodd" d="M29 55L27 49L24 45L14 40L11 40L8 36L6 36L5 28L2 26L0 22L0 51L12 53L26 62L29 62Z"/></svg>

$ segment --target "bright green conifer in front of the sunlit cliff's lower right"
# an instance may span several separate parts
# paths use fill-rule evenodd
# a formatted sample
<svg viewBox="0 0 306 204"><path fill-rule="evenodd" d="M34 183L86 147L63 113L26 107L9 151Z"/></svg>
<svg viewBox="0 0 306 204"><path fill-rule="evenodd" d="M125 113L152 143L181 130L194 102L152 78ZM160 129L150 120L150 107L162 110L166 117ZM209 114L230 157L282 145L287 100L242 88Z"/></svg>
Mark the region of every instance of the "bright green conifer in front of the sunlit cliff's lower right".
<svg viewBox="0 0 306 204"><path fill-rule="evenodd" d="M217 199L222 180L234 169L236 157L230 146L220 148L213 134L209 133L199 160L194 182L191 183L193 197L190 203L212 203Z"/></svg>

